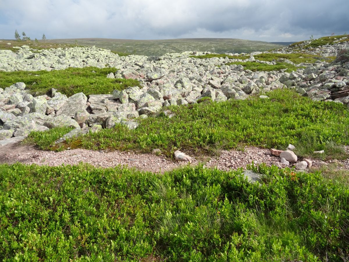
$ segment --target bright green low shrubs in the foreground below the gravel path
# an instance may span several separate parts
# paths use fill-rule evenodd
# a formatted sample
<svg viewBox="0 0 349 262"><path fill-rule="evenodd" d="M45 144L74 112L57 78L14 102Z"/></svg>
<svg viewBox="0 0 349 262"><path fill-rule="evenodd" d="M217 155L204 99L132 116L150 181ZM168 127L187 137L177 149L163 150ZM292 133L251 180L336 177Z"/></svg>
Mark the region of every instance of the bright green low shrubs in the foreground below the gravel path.
<svg viewBox="0 0 349 262"><path fill-rule="evenodd" d="M275 166L0 165L1 261L342 261L349 189Z"/></svg>

